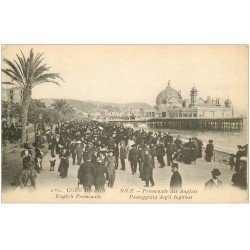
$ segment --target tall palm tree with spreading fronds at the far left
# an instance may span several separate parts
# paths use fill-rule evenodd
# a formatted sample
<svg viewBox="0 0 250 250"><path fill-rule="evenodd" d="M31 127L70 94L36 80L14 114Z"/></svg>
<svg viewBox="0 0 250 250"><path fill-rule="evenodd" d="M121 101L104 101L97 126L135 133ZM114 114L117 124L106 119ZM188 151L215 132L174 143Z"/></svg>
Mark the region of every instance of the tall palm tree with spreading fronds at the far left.
<svg viewBox="0 0 250 250"><path fill-rule="evenodd" d="M42 53L34 55L33 49L30 50L29 57L25 57L21 51L21 56L16 54L17 59L11 62L3 59L8 68L2 69L2 72L11 78L11 81L3 82L18 86L23 91L22 99L22 143L26 142L26 125L28 119L28 110L31 100L32 89L42 83L60 84L57 79L63 80L58 73L51 73L50 67L41 64L44 60Z"/></svg>

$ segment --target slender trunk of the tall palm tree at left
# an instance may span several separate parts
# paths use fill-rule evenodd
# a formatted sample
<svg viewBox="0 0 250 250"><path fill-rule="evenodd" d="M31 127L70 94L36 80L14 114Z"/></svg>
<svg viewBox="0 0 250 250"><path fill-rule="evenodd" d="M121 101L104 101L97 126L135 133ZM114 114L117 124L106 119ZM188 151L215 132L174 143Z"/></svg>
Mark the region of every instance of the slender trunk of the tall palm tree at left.
<svg viewBox="0 0 250 250"><path fill-rule="evenodd" d="M24 89L23 91L23 102L22 102L22 141L21 143L27 142L27 121L28 121L28 111L31 100L31 89Z"/></svg>

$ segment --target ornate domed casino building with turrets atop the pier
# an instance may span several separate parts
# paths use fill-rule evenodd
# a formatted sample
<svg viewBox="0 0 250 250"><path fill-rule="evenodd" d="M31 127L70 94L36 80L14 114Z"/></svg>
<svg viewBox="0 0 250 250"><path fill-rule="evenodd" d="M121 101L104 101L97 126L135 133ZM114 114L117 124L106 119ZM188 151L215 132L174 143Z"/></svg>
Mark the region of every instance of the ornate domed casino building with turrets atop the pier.
<svg viewBox="0 0 250 250"><path fill-rule="evenodd" d="M170 86L161 91L156 98L156 106L142 109L144 118L231 118L234 116L230 100L224 105L220 104L218 98L207 97L203 100L198 95L198 90L193 87L190 90L190 99L183 100L181 91Z"/></svg>

